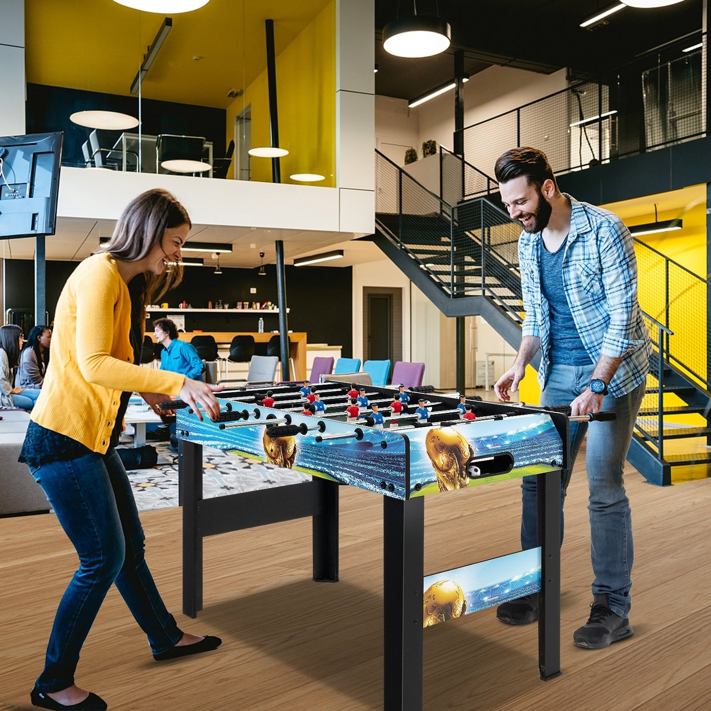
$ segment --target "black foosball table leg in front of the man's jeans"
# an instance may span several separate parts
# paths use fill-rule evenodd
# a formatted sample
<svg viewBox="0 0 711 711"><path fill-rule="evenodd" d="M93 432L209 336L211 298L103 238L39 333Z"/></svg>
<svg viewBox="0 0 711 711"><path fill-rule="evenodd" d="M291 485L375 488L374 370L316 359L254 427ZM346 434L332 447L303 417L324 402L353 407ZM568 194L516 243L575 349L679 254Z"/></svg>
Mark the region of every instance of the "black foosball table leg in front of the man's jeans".
<svg viewBox="0 0 711 711"><path fill-rule="evenodd" d="M536 487L541 547L538 669L547 681L560 674L560 470L539 474Z"/></svg>

